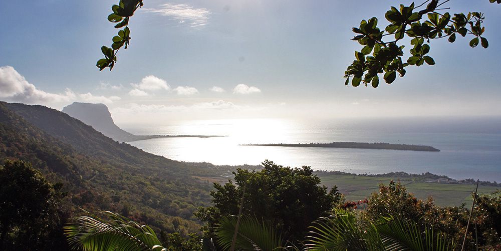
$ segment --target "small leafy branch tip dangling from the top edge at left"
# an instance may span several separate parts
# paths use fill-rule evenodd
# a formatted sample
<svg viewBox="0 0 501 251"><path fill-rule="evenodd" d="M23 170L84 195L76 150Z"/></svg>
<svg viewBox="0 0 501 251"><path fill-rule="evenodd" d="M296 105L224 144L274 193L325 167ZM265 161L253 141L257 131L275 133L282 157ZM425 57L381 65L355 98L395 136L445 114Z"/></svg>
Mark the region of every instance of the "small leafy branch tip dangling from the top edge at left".
<svg viewBox="0 0 501 251"><path fill-rule="evenodd" d="M118 31L118 36L113 37L111 48L107 46L101 47L104 58L99 59L96 63L99 71L104 70L106 67L109 67L111 71L117 62L117 54L120 48L124 47L124 49L127 49L130 43L130 29L128 27L130 17L132 17L134 12L142 6L142 0L120 0L118 5L113 5L111 7L113 13L108 16L108 21L118 23L115 25L117 29L122 27L125 28Z"/></svg>

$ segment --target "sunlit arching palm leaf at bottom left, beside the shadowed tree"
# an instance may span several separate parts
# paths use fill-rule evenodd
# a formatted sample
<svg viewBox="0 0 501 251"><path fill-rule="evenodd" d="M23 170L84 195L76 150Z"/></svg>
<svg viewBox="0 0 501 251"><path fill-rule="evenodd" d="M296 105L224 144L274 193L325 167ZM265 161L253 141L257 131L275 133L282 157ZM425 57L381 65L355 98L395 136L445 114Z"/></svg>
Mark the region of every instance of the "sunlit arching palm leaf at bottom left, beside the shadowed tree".
<svg viewBox="0 0 501 251"><path fill-rule="evenodd" d="M149 226L109 211L77 217L64 230L70 246L84 251L167 250Z"/></svg>

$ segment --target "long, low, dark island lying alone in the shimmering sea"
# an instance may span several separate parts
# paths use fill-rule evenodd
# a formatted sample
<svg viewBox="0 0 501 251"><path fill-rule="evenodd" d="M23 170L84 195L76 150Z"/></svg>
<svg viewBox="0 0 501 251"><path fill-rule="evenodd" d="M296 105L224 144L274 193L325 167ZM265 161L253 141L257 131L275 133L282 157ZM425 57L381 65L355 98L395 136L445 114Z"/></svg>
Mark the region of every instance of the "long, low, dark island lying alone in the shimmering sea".
<svg viewBox="0 0 501 251"><path fill-rule="evenodd" d="M422 152L439 152L433 146L406 145L390 143L364 143L364 142L332 142L332 143L307 143L307 144L240 144L241 146L289 146L289 147L327 147L327 148L359 148L359 149L385 149Z"/></svg>

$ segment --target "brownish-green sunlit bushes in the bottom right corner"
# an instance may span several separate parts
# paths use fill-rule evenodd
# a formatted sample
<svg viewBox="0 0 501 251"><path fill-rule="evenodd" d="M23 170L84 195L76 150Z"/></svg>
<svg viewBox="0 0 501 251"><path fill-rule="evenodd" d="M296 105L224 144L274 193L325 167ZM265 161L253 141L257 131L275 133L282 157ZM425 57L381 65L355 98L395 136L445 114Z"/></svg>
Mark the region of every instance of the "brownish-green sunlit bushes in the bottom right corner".
<svg viewBox="0 0 501 251"><path fill-rule="evenodd" d="M482 250L497 250L501 247L498 223L501 220L500 195L499 191L490 195L477 195L465 250L474 250L476 242ZM381 216L392 215L395 219L417 222L422 228L433 227L450 236L455 243L462 243L469 210L464 206L435 206L432 198L427 201L418 200L402 184L391 181L388 186L381 184L379 192L371 195L362 215L362 224L373 222ZM461 248L460 245L458 248Z"/></svg>

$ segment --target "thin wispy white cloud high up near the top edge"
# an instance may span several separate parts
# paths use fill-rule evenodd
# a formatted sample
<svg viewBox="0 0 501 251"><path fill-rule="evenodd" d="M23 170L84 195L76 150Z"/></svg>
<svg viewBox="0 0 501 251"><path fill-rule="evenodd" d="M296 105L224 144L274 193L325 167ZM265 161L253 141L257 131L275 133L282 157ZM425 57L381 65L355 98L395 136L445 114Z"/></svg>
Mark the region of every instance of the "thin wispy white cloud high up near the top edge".
<svg viewBox="0 0 501 251"><path fill-rule="evenodd" d="M210 11L204 8L193 8L186 4L164 4L156 9L143 9L144 12L154 13L168 17L178 24L189 25L190 27L201 28L207 25Z"/></svg>

